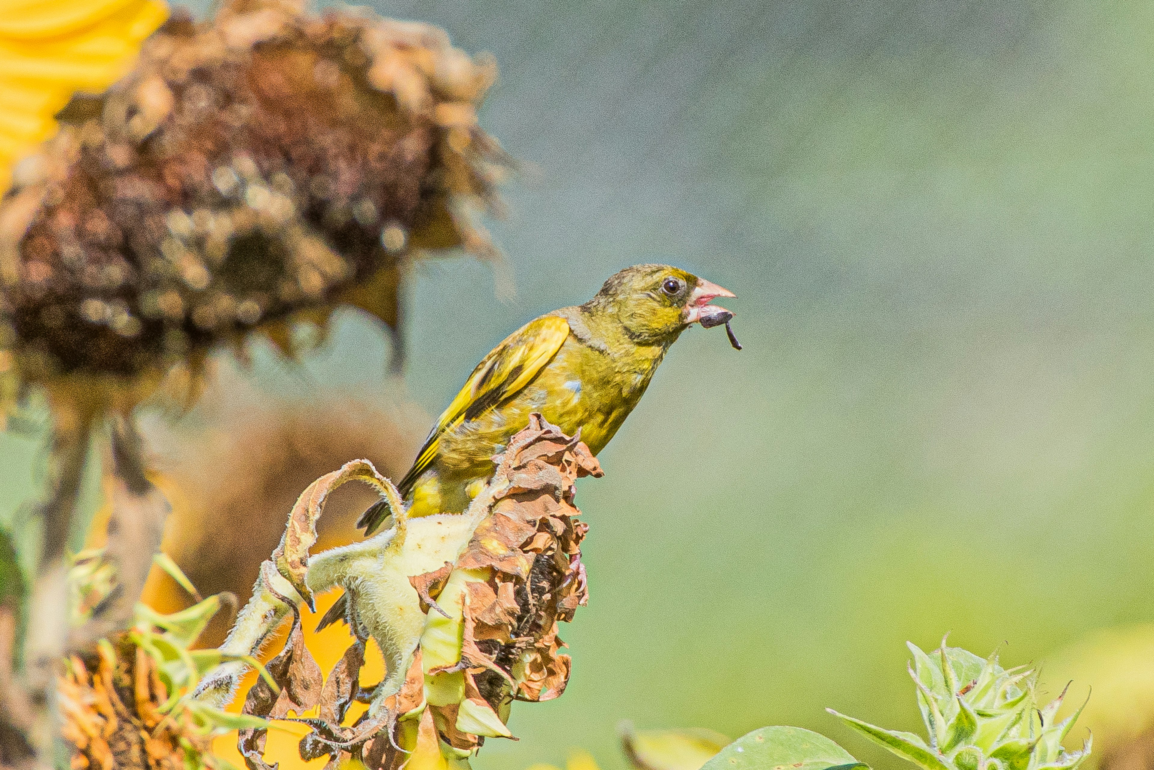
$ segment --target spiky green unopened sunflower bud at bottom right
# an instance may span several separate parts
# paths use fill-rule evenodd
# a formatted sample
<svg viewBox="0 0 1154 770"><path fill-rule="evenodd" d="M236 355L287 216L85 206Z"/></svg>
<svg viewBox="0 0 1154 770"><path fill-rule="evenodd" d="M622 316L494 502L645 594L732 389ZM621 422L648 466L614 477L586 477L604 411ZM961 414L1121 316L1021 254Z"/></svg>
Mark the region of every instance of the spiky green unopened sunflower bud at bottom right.
<svg viewBox="0 0 1154 770"><path fill-rule="evenodd" d="M929 655L909 650L926 739L830 713L926 770L1074 770L1089 755L1089 739L1078 752L1062 746L1081 708L1057 722L1065 690L1039 705L1036 671L1005 670L997 653L983 660L944 640Z"/></svg>

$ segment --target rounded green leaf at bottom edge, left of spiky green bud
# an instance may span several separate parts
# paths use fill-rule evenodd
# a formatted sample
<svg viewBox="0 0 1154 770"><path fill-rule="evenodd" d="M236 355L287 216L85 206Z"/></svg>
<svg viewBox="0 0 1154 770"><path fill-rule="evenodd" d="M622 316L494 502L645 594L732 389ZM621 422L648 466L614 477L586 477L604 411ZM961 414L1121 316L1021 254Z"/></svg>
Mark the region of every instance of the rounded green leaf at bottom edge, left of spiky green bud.
<svg viewBox="0 0 1154 770"><path fill-rule="evenodd" d="M702 770L829 770L862 768L825 735L801 727L762 727L742 735L702 765Z"/></svg>

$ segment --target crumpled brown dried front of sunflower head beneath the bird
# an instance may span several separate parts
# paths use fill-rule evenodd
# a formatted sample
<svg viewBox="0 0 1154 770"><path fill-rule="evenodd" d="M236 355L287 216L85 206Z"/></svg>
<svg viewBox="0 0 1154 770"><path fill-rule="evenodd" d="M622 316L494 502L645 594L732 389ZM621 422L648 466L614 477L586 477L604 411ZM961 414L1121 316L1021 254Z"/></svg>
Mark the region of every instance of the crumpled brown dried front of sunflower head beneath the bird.
<svg viewBox="0 0 1154 770"><path fill-rule="evenodd" d="M585 444L539 414L509 453L512 462L497 473L505 474L508 491L456 565L489 573L486 582L467 584L462 659L454 668L465 672L465 700L493 715L508 715L510 700L547 701L564 691L570 658L561 652L557 623L589 598L579 548L589 528L576 518L574 485L602 474ZM455 730L460 708L428 707L444 742L481 745L484 738Z"/></svg>

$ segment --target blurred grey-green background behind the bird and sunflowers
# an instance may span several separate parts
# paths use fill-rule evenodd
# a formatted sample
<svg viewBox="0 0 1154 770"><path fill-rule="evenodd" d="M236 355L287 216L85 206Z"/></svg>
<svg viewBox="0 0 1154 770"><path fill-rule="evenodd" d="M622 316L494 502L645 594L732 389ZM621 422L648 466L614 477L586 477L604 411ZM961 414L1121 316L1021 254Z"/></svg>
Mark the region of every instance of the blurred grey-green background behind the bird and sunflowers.
<svg viewBox="0 0 1154 770"><path fill-rule="evenodd" d="M1154 6L373 7L496 55L482 125L525 163L490 223L516 297L473 261L412 282L429 412L627 264L740 297L745 350L687 332L583 481L569 690L478 770L621 767L621 719L800 725L897 768L823 708L920 724L906 640L1018 664L1154 620ZM349 313L304 373L252 376L373 399L388 354ZM9 509L37 447L0 435Z"/></svg>

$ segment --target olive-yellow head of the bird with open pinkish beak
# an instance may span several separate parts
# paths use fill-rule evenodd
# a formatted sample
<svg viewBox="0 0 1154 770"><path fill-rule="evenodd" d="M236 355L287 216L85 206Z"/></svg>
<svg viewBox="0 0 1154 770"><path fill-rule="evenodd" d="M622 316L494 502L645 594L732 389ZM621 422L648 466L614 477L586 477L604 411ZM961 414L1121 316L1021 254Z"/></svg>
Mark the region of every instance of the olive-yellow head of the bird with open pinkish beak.
<svg viewBox="0 0 1154 770"><path fill-rule="evenodd" d="M718 314L732 314L711 305L732 291L668 264L635 264L612 276L587 306L615 316L636 342L676 338L690 324ZM722 321L724 322L724 321Z"/></svg>

